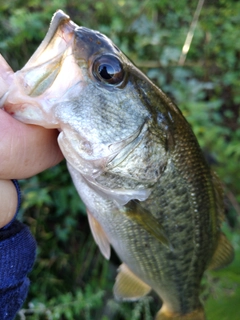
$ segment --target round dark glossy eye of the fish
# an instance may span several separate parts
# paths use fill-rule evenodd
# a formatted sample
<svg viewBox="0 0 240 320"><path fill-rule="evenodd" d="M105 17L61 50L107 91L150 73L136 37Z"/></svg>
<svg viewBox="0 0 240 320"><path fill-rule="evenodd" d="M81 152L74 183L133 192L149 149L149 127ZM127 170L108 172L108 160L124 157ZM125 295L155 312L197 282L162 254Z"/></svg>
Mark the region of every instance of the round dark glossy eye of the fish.
<svg viewBox="0 0 240 320"><path fill-rule="evenodd" d="M123 65L120 60L112 55L98 57L93 63L94 77L109 85L117 85L124 79Z"/></svg>

